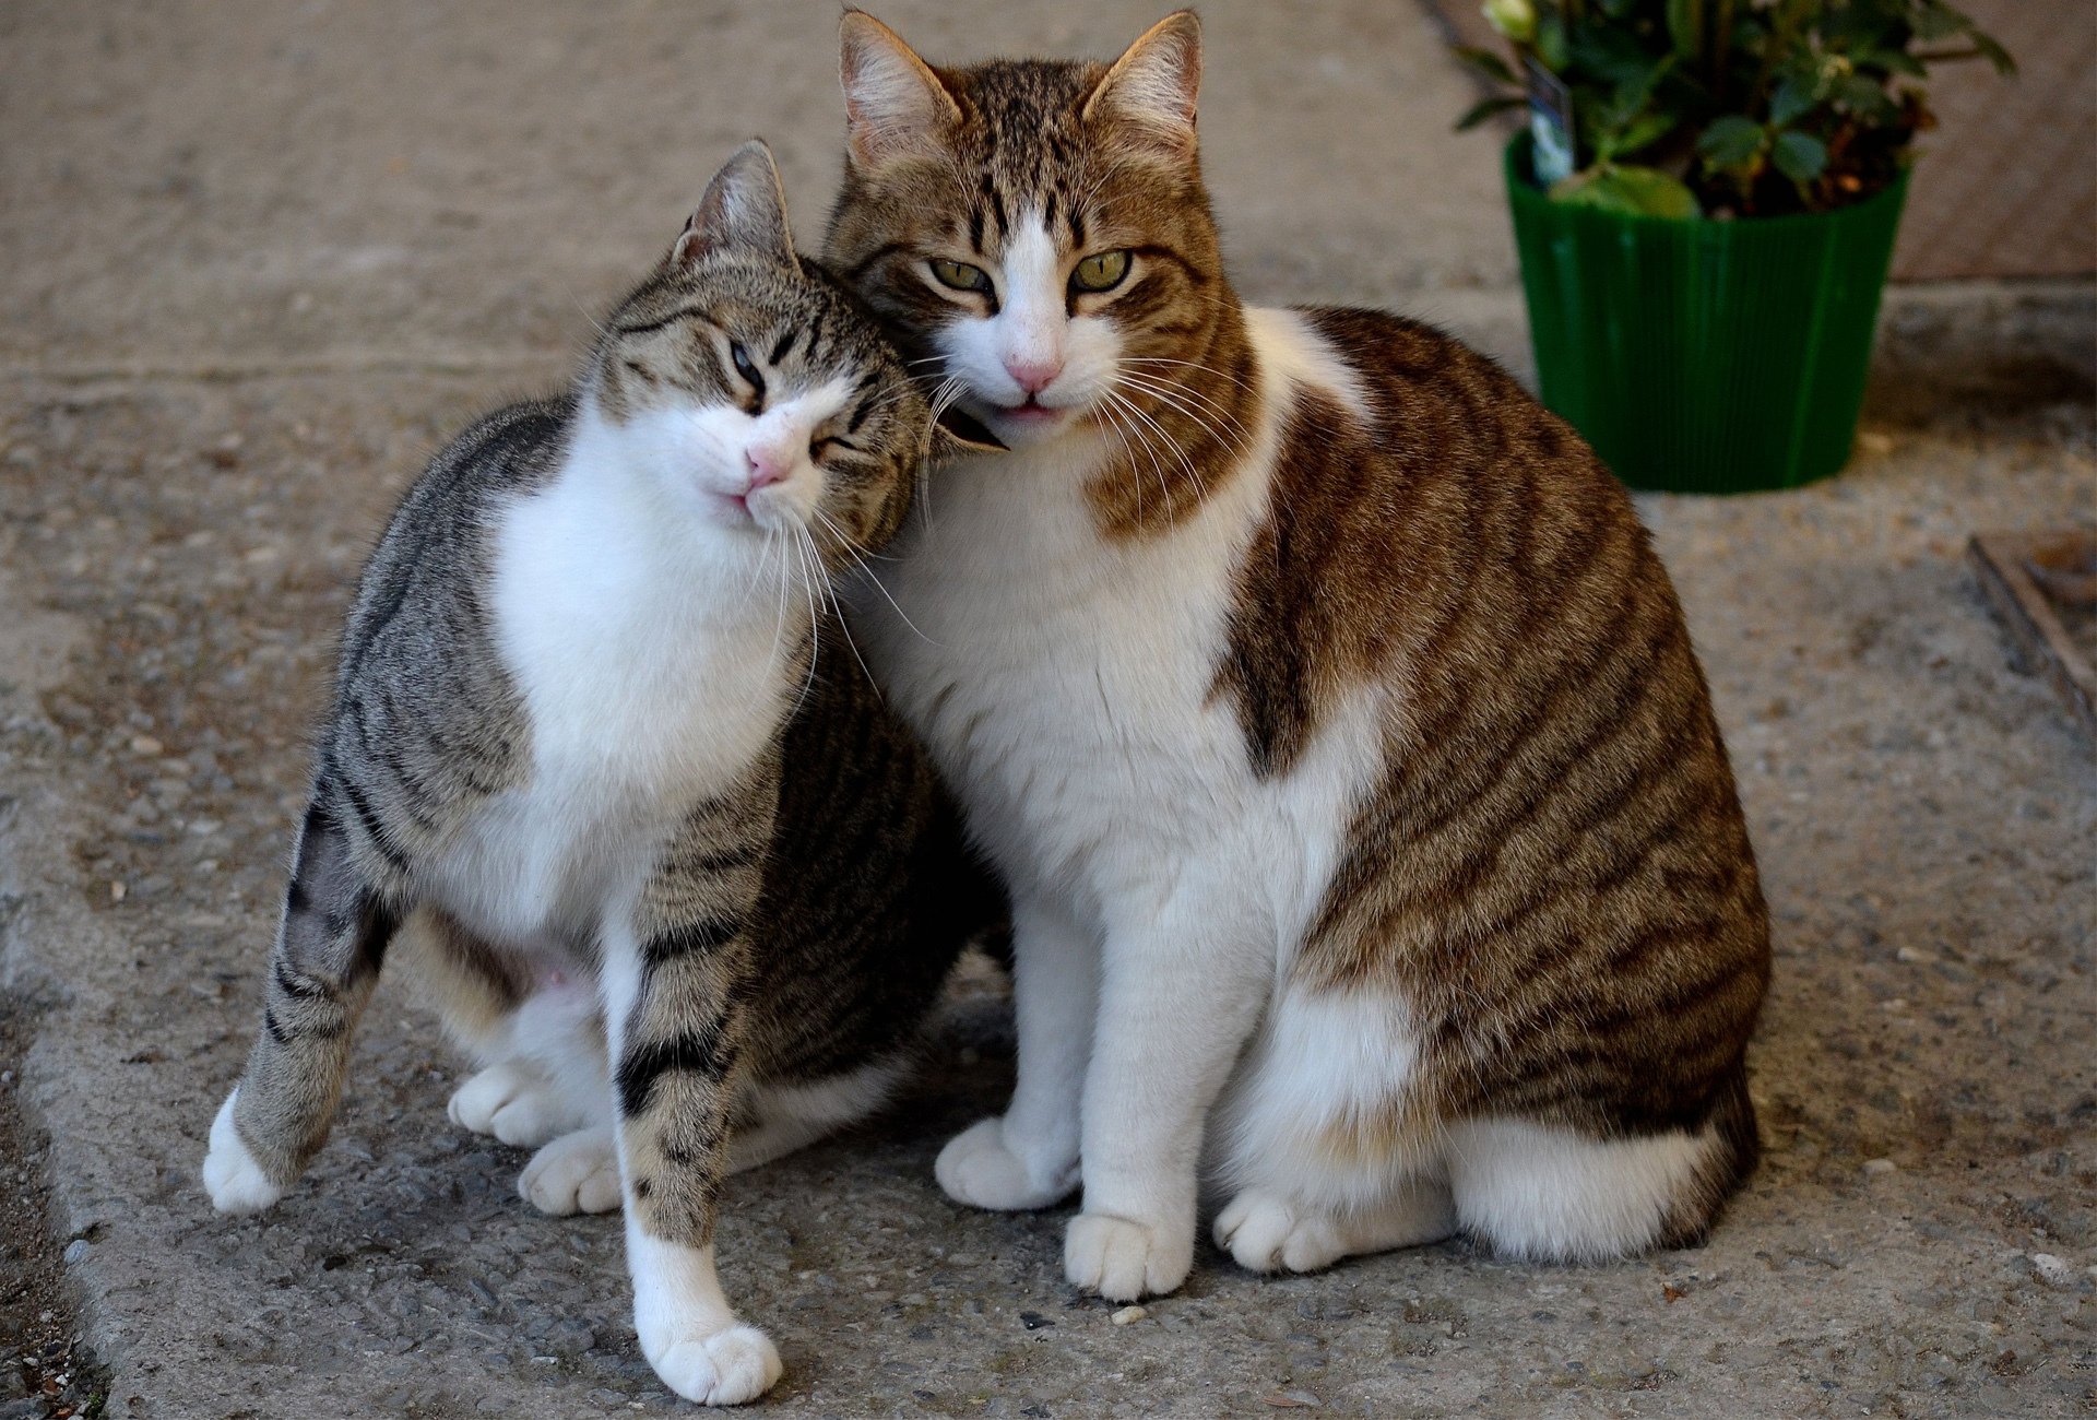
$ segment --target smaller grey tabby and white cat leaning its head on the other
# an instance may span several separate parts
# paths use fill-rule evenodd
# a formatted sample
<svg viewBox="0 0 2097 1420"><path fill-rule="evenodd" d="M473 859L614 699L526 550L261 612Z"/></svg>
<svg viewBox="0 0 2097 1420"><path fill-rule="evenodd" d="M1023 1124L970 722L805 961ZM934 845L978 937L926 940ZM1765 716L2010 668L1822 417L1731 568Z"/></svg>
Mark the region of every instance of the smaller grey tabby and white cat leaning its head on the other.
<svg viewBox="0 0 2097 1420"><path fill-rule="evenodd" d="M212 1202L298 1179L415 925L484 1066L453 1118L545 1145L539 1208L625 1208L673 1391L763 1393L778 1353L713 1265L721 1177L872 1110L1002 915L830 602L929 449L988 447L933 424L740 149L570 394L474 424L373 552Z"/></svg>

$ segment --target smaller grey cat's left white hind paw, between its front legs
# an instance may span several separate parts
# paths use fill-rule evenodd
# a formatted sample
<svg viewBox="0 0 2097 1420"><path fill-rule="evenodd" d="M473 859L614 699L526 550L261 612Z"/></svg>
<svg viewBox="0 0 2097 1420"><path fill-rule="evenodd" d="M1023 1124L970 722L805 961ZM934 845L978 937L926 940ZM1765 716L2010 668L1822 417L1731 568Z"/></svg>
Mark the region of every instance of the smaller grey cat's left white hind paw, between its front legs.
<svg viewBox="0 0 2097 1420"><path fill-rule="evenodd" d="M606 1120L608 1099L596 992L581 977L543 973L503 1024L493 1063L447 1110L461 1128L531 1147Z"/></svg>

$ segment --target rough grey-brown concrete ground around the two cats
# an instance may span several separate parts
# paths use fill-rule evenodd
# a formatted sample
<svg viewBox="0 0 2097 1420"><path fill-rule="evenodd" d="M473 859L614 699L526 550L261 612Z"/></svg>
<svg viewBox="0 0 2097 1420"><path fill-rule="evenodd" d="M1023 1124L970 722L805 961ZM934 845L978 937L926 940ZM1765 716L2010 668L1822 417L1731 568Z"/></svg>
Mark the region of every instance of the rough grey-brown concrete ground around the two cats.
<svg viewBox="0 0 2097 1420"><path fill-rule="evenodd" d="M1162 2L883 13L933 57L1107 55ZM1244 289L1399 306L1520 367L1495 138L1447 132L1470 90L1422 13L1204 8ZM738 138L772 138L816 239L835 15L0 8L0 1416L675 1405L617 1223L526 1212L522 1154L445 1120L457 1061L401 984L277 1212L212 1214L195 1168L361 550L440 438L564 375ZM931 1181L1009 1089L986 969L906 1107L730 1193L728 1288L786 1357L770 1405L2097 1405L2093 747L2007 663L1961 560L1975 529L2097 520L2093 365L2091 285L1896 292L1850 472L1644 499L1776 919L1768 1162L1705 1248L1516 1267L1449 1244L1281 1282L1204 1252L1114 1326L1061 1282L1065 1212L963 1212Z"/></svg>

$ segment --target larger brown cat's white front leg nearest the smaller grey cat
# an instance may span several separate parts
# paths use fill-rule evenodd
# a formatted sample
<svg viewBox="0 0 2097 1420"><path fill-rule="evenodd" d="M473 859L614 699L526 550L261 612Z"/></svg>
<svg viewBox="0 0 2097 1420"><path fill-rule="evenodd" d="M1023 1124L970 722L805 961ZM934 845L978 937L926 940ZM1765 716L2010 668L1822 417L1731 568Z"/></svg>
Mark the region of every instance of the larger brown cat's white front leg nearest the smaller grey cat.
<svg viewBox="0 0 2097 1420"><path fill-rule="evenodd" d="M933 1166L971 1208L1046 1208L1078 1187L1078 1105L1099 1009L1099 940L1040 894L1013 894L1019 1080L1002 1116L954 1135Z"/></svg>

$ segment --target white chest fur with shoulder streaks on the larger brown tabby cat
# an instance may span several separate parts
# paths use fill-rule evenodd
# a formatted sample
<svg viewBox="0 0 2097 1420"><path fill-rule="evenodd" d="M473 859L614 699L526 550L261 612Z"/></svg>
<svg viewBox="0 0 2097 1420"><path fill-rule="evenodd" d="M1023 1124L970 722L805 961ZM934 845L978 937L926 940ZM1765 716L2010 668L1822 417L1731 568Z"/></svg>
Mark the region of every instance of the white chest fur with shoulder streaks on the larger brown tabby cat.
<svg viewBox="0 0 2097 1420"><path fill-rule="evenodd" d="M1350 698L1292 774L1262 780L1216 688L1267 516L1273 411L1296 384L1338 388L1296 317L1254 336L1269 415L1199 514L1103 539L1082 493L1099 451L1076 440L950 466L879 564L887 596L858 604L877 675L1015 883L1111 912L1197 873L1241 885L1239 906L1288 942L1336 862L1384 701Z"/></svg>

